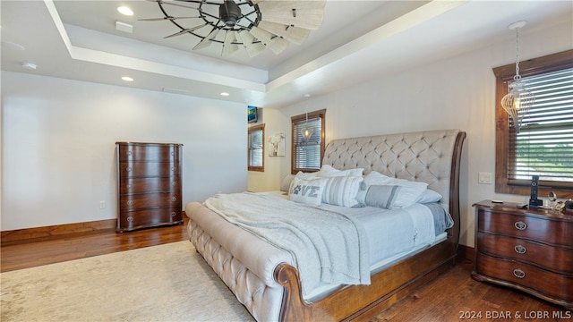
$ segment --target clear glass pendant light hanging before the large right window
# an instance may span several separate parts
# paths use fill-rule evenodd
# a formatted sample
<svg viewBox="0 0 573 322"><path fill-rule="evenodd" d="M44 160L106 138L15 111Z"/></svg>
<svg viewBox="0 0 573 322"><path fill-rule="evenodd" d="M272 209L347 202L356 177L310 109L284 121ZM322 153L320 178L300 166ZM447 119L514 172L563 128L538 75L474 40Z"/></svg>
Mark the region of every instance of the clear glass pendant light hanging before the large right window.
<svg viewBox="0 0 573 322"><path fill-rule="evenodd" d="M521 128L523 117L535 103L535 95L527 90L519 75L519 29L526 25L526 21L517 21L509 25L509 30L516 30L516 75L509 84L509 93L501 98L501 106L509 114L516 132Z"/></svg>

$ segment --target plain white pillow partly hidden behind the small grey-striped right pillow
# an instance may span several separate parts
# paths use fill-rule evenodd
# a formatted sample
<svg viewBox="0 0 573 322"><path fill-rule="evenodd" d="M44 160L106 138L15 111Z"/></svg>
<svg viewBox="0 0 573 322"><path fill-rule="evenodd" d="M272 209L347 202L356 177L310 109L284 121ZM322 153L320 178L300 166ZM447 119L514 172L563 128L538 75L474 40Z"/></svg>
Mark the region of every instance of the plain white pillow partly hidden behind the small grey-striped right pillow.
<svg viewBox="0 0 573 322"><path fill-rule="evenodd" d="M365 187L363 190L371 185L400 186L401 189L398 191L398 195L393 203L393 207L396 208L405 208L414 205L428 188L428 183L426 182L412 182L405 179L390 178L376 171L372 171L364 177L364 184Z"/></svg>

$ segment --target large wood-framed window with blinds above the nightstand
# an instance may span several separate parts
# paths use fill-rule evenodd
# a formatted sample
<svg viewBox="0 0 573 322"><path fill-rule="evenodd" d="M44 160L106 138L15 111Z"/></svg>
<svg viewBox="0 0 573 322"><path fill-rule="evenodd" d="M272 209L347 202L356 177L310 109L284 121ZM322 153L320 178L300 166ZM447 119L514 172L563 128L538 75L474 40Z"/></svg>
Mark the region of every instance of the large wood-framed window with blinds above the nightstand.
<svg viewBox="0 0 573 322"><path fill-rule="evenodd" d="M501 97L509 91L515 64L493 69L496 76L495 191L528 195L531 176L540 176L540 196L555 191L573 197L573 50L519 64L535 104L517 133L509 127Z"/></svg>

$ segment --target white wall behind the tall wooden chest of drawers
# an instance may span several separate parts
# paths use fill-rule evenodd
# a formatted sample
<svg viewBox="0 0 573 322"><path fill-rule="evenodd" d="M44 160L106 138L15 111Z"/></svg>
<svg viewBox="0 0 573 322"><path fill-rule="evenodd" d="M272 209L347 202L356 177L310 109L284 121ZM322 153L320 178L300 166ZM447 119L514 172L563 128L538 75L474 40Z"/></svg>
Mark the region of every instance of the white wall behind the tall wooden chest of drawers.
<svg viewBox="0 0 573 322"><path fill-rule="evenodd" d="M2 231L115 218L116 141L183 143L183 205L246 190L245 108L2 72Z"/></svg>

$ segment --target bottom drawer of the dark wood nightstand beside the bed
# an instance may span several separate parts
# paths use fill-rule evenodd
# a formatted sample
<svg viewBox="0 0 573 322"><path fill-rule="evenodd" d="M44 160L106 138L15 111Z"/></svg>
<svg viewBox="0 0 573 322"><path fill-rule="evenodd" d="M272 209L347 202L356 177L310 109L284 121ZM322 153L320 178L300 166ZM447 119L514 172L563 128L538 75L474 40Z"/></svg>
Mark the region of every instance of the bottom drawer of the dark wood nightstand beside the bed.
<svg viewBox="0 0 573 322"><path fill-rule="evenodd" d="M554 274L525 263L492 258L479 252L476 258L478 274L520 285L527 291L540 292L560 301L573 301L573 276Z"/></svg>

